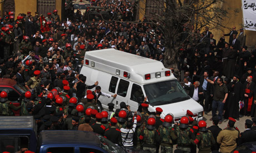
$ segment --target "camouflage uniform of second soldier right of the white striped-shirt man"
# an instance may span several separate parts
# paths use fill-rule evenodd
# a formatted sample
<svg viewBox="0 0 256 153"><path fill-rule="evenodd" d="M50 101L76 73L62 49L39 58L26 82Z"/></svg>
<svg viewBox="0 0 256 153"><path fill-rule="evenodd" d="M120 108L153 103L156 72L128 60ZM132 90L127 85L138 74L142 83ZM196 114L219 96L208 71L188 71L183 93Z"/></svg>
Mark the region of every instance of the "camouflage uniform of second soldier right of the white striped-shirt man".
<svg viewBox="0 0 256 153"><path fill-rule="evenodd" d="M173 152L173 140L177 139L177 136L174 134L173 127L164 127L163 125L159 126L159 133L160 133L160 146L161 146L161 153L164 152Z"/></svg>

